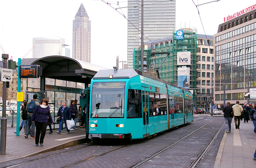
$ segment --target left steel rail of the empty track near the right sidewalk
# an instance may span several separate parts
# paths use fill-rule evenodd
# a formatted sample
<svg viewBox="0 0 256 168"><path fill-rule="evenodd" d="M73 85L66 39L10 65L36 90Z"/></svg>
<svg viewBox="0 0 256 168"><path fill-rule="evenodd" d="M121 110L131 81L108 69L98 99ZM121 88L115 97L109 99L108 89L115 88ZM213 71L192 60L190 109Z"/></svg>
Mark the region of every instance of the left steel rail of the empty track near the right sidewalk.
<svg viewBox="0 0 256 168"><path fill-rule="evenodd" d="M216 118L216 119L217 119L217 118ZM216 119L215 119L215 120L216 120ZM213 120L213 121L215 121L215 120ZM211 121L211 122L213 122L213 121ZM201 128L203 128L204 126L206 126L206 125L210 124L211 122L209 122L209 123L207 123L207 124L205 124L205 125L201 126L201 127L200 127L200 128L198 128L197 130L194 130L192 133L189 133L189 134L188 134L188 135L186 135L185 137L183 137L183 138L179 139L178 141L174 142L174 143L173 143L173 144L171 144L171 145L168 145L168 146L167 146L167 147L165 147L164 149L162 149L162 150L158 151L157 153L153 154L151 157L146 158L145 160L143 160L143 161L141 161L141 162L137 163L137 164L136 164L136 165L134 165L134 166L131 166L130 168L139 167L139 166L140 166L140 165L142 165L143 163L145 163L145 162L149 161L150 159L152 159L152 158L156 157L157 155L161 154L163 151L165 151L165 150L169 149L170 147L172 147L172 146L176 145L177 143L181 142L182 140L184 140L184 139L185 139L185 138L187 138L188 136L192 135L192 134L193 134L193 133L195 133L196 131L200 130L200 129L201 129Z"/></svg>

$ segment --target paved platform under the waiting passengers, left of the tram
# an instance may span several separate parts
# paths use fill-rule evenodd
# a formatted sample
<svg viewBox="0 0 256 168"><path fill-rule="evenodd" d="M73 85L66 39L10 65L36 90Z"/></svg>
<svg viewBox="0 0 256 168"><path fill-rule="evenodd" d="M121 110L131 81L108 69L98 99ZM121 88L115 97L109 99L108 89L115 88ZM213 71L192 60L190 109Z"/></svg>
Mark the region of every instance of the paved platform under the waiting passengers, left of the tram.
<svg viewBox="0 0 256 168"><path fill-rule="evenodd" d="M35 139L30 139L30 135L28 138L24 137L24 129L20 131L20 136L16 136L13 133L16 127L7 127L6 155L0 155L0 163L86 142L85 128L77 128L77 130L70 131L70 134L66 134L66 128L61 131L61 134L56 133L58 129L54 129L52 134L48 134L49 130L47 130L44 146L37 147Z"/></svg>

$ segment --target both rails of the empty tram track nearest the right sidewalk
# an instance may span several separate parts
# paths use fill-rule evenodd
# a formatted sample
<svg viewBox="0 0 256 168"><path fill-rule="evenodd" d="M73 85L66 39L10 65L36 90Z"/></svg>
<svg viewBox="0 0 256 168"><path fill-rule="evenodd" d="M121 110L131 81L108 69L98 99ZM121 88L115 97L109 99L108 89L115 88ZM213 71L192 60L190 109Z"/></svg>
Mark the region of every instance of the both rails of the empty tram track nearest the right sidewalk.
<svg viewBox="0 0 256 168"><path fill-rule="evenodd" d="M217 118L216 118L216 119L217 119ZM215 119L215 120L216 120L216 119ZM215 120L213 120L213 121L215 121ZM198 120L198 121L200 121L200 120ZM213 121L211 121L211 122L213 122ZM197 130L194 130L193 132L191 132L191 133L189 133L188 135L182 137L182 138L179 139L178 141L172 143L171 145L169 145L169 146L163 148L162 150L158 151L157 153L151 155L151 157L148 157L148 158L144 159L143 161L141 161L141 162L137 163L136 165L131 166L131 167L129 167L129 168L136 168L136 167L139 167L139 166L143 165L144 163L148 162L148 161L151 160L152 158L155 158L156 156L158 156L159 154L163 153L164 151L166 151L166 150L169 149L170 147L172 147L172 146L176 145L177 143L183 141L184 139L186 139L187 137L189 137L190 135L192 135L192 134L195 133L196 131L198 131L198 130L202 129L203 127L205 127L206 125L210 124L211 122L209 122L209 123L207 123L207 124L201 126L201 127L198 128ZM224 123L223 123L223 124L224 124ZM223 126L223 125L221 125L221 127L222 127L222 126ZM213 136L213 137L211 138L211 140L210 140L211 143L210 143L210 142L208 143L208 145L204 148L204 150L201 151L201 153L200 153L200 154L198 155L198 157L193 161L193 163L190 165L190 167L193 167L193 165L196 165L196 164L200 161L200 159L202 158L202 156L204 155L204 153L207 151L207 149L209 149L209 147L211 146L213 140L214 140L214 139L216 138L216 136L218 135L218 133L219 133L221 127L220 127L219 130L216 132L215 136Z"/></svg>

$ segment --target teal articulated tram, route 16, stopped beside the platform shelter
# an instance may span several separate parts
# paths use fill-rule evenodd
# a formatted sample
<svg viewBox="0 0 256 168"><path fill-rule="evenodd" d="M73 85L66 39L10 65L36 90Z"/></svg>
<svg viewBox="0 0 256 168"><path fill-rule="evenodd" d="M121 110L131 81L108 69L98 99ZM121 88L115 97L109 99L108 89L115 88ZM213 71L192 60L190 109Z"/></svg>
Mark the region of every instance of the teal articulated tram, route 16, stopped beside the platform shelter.
<svg viewBox="0 0 256 168"><path fill-rule="evenodd" d="M187 89L135 69L100 70L91 80L91 139L142 139L192 121Z"/></svg>

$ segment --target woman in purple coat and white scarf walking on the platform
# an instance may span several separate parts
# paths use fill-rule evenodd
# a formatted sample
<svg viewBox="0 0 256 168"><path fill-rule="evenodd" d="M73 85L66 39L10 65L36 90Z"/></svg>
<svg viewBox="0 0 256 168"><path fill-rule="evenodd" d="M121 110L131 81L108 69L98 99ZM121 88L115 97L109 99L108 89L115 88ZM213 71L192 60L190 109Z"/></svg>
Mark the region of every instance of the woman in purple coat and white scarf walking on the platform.
<svg viewBox="0 0 256 168"><path fill-rule="evenodd" d="M37 112L37 115L36 115ZM42 99L40 105L37 105L32 116L31 116L31 122L35 121L36 125L36 146L38 146L38 143L40 143L40 146L44 146L44 136L46 132L46 127L48 124L48 118L49 117L51 123L52 121L52 116L50 113L50 107L48 106L48 101L46 99ZM41 136L40 136L41 133ZM39 141L40 137L40 141Z"/></svg>

